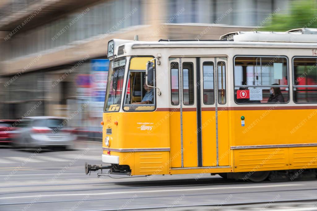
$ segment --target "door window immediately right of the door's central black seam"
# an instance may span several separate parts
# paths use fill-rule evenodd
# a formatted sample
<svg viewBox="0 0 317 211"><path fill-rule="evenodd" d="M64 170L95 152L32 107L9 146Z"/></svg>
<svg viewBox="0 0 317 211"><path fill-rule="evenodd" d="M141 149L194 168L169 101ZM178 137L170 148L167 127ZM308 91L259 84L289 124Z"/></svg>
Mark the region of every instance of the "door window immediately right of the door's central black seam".
<svg viewBox="0 0 317 211"><path fill-rule="evenodd" d="M204 104L211 105L215 103L214 97L214 63L204 62L203 63L203 93L204 93Z"/></svg>

